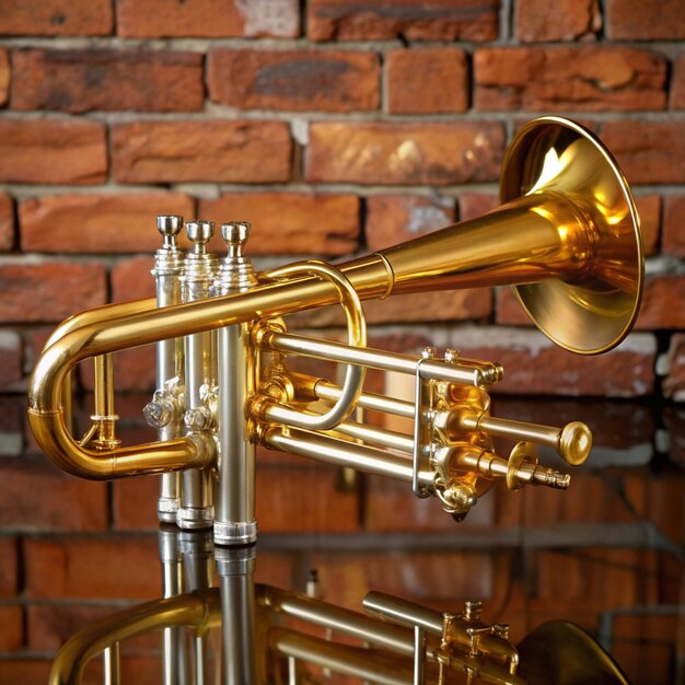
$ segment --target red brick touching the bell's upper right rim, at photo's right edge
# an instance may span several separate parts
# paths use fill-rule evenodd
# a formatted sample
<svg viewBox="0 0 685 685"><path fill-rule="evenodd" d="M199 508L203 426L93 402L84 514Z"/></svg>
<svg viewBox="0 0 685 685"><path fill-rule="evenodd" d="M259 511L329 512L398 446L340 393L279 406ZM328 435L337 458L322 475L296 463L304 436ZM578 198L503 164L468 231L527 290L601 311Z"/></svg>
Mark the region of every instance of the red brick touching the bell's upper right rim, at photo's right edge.
<svg viewBox="0 0 685 685"><path fill-rule="evenodd" d="M607 121L601 137L628 183L685 183L685 123Z"/></svg>

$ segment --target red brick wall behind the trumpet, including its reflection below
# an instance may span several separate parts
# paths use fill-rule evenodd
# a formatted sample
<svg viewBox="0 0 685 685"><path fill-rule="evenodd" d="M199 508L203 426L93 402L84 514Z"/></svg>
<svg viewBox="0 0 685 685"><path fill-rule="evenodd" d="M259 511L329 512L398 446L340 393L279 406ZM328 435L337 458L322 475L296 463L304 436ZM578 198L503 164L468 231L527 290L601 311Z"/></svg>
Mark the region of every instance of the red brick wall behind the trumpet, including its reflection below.
<svg viewBox="0 0 685 685"><path fill-rule="evenodd" d="M441 606L477 594L516 638L608 617L636 682L674 676L682 619L659 607L682 596L680 0L0 0L0 36L1 683L44 682L72 629L159 592L158 574L121 571L156 565L154 480L63 476L23 418L56 323L151 293L155 216L247 219L258 265L378 249L491 208L514 129L549 112L594 130L634 187L649 274L636 332L572 357L498 289L370 303L371 337L502 361L499 414L585 420L599 465L565 495L491 494L455 529L395 484L341 491L328 468L263 455L258 573L301 587L316 566L351 606L368 587ZM336 316L300 325L326 335ZM123 434L139 440L150 351L116 373Z"/></svg>

